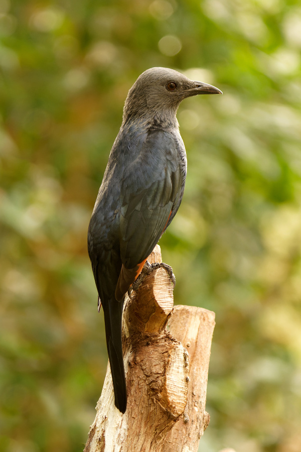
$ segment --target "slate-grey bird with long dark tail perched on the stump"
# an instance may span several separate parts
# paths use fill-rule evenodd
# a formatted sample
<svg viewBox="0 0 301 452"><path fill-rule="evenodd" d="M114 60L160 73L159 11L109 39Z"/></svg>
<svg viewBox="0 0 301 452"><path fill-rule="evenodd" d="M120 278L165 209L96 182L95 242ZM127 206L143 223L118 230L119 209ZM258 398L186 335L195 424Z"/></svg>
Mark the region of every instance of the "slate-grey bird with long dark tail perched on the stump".
<svg viewBox="0 0 301 452"><path fill-rule="evenodd" d="M88 228L103 307L115 406L125 413L122 310L126 293L181 204L187 174L176 113L187 97L222 94L170 68L145 70L129 89Z"/></svg>

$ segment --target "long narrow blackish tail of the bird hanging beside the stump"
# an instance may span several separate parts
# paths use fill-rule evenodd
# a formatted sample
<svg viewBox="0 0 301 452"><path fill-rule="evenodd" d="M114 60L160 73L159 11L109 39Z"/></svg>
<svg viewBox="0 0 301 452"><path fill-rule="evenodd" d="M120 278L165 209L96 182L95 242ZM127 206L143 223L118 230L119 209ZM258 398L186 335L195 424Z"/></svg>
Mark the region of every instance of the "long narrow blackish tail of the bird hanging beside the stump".
<svg viewBox="0 0 301 452"><path fill-rule="evenodd" d="M105 334L110 368L113 380L115 406L121 413L126 410L126 382L122 354L122 310L124 297L117 301L115 297L103 305L105 318Z"/></svg>

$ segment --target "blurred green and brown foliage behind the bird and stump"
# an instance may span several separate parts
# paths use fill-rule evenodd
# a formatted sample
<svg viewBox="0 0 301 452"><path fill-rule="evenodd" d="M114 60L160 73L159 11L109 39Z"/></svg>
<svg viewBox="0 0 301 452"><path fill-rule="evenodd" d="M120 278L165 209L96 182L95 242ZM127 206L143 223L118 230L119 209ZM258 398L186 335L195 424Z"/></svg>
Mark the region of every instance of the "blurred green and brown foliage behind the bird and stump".
<svg viewBox="0 0 301 452"><path fill-rule="evenodd" d="M0 451L79 452L107 355L86 233L128 89L152 66L218 86L179 109L175 302L216 312L200 450L301 450L297 0L0 0Z"/></svg>

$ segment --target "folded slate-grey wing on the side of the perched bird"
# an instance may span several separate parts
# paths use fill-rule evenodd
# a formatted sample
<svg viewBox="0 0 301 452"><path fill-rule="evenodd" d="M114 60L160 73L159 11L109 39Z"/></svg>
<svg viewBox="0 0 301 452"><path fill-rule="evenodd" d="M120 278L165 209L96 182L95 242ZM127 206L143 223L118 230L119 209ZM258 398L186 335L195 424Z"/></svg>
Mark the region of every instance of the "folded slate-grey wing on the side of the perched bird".
<svg viewBox="0 0 301 452"><path fill-rule="evenodd" d="M149 132L121 185L120 255L131 269L153 251L163 234L183 183L177 143L168 132Z"/></svg>

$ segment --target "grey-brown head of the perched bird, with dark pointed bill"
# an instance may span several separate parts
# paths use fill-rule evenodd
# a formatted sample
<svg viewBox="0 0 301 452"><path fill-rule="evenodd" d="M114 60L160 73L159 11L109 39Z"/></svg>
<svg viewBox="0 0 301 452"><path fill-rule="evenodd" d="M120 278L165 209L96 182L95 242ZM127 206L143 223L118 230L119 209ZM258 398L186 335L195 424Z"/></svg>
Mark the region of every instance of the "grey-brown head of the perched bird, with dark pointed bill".
<svg viewBox="0 0 301 452"><path fill-rule="evenodd" d="M174 69L152 67L144 71L128 91L123 109L123 121L130 118L175 118L179 104L197 94L222 94L207 83L190 80Z"/></svg>

